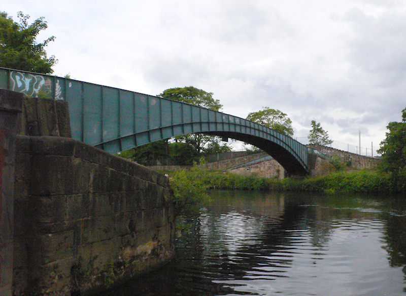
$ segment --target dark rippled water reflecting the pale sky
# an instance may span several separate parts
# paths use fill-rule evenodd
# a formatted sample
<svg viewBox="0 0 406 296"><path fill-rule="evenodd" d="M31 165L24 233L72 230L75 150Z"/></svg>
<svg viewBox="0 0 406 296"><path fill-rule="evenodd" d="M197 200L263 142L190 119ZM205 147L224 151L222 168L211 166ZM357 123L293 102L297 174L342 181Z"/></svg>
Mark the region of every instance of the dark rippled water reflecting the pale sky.
<svg viewBox="0 0 406 296"><path fill-rule="evenodd" d="M108 295L406 295L406 197L210 196L170 264Z"/></svg>

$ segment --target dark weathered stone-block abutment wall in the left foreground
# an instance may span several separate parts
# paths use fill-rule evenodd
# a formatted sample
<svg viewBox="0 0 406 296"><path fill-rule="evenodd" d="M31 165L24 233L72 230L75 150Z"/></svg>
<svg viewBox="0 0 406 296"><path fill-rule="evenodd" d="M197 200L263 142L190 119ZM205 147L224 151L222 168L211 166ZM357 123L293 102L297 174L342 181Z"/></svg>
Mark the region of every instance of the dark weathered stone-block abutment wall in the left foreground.
<svg viewBox="0 0 406 296"><path fill-rule="evenodd" d="M71 295L174 255L165 176L68 138L17 137L14 295Z"/></svg>

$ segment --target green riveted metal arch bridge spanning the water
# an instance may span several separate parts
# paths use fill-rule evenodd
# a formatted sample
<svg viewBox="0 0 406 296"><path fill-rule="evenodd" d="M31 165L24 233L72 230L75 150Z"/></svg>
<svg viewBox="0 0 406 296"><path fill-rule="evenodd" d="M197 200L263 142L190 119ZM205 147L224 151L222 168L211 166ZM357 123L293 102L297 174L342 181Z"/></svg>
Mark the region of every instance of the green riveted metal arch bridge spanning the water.
<svg viewBox="0 0 406 296"><path fill-rule="evenodd" d="M252 144L294 175L309 173L308 155L314 153L286 135L240 117L70 78L0 68L0 88L67 101L72 137L110 153L205 133Z"/></svg>

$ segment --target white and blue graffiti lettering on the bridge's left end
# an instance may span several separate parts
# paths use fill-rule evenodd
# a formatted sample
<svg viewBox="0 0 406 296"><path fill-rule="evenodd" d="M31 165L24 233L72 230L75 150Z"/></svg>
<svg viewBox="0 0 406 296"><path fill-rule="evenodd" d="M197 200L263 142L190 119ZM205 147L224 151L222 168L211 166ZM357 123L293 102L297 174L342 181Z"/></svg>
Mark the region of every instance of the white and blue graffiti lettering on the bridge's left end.
<svg viewBox="0 0 406 296"><path fill-rule="evenodd" d="M63 100L59 79L55 83L55 100ZM10 89L30 97L41 96L52 98L52 81L49 77L40 74L31 74L19 71L10 72Z"/></svg>

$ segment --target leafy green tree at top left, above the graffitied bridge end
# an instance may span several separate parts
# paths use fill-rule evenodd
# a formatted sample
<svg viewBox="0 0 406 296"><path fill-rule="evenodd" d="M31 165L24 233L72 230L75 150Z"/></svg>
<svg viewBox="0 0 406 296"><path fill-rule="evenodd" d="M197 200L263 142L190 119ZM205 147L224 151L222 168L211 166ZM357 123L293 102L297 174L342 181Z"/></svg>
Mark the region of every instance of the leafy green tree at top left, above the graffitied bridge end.
<svg viewBox="0 0 406 296"><path fill-rule="evenodd" d="M51 36L42 43L36 42L37 35L48 25L44 17L28 24L28 15L21 11L17 17L19 23L13 21L6 12L0 12L0 66L30 72L52 73L52 66L57 60L54 56L47 57L45 47L55 39Z"/></svg>

